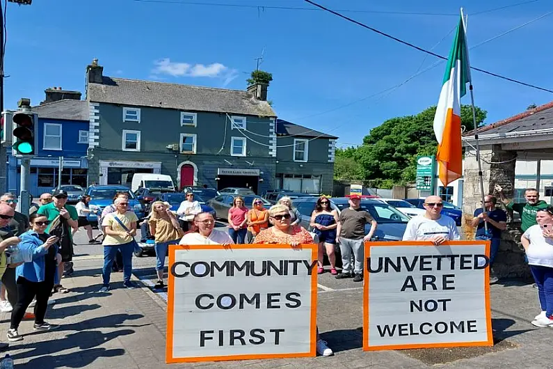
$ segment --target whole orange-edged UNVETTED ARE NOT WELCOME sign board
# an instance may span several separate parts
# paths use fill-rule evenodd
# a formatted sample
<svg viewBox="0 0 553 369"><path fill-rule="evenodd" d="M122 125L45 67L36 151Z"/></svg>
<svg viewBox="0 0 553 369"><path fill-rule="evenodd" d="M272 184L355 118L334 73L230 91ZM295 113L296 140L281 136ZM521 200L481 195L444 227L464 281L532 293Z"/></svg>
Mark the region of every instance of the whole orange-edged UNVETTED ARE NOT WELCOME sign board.
<svg viewBox="0 0 553 369"><path fill-rule="evenodd" d="M492 346L488 241L367 242L363 349Z"/></svg>

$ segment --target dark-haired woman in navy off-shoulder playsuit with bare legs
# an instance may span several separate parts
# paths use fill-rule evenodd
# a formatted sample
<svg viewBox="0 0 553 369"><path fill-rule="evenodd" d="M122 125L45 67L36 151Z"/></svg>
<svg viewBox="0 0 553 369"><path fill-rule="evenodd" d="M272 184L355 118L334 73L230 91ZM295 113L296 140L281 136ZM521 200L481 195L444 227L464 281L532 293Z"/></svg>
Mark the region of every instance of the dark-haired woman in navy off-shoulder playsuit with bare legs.
<svg viewBox="0 0 553 369"><path fill-rule="evenodd" d="M330 274L337 275L336 256L334 247L336 245L336 227L338 226L338 212L330 207L330 200L325 196L319 197L315 204L315 210L311 214L310 226L313 232L319 236L319 254L317 257L319 267L318 274L324 273L323 259L324 252L330 262Z"/></svg>

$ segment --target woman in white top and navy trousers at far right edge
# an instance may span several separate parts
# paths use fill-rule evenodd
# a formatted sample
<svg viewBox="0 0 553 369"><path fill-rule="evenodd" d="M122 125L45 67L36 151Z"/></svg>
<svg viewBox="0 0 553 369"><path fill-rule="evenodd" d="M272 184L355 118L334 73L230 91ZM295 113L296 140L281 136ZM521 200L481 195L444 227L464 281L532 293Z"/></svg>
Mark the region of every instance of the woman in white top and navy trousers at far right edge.
<svg viewBox="0 0 553 369"><path fill-rule="evenodd" d="M541 313L532 324L553 327L553 207L538 210L536 221L520 237L540 298Z"/></svg>

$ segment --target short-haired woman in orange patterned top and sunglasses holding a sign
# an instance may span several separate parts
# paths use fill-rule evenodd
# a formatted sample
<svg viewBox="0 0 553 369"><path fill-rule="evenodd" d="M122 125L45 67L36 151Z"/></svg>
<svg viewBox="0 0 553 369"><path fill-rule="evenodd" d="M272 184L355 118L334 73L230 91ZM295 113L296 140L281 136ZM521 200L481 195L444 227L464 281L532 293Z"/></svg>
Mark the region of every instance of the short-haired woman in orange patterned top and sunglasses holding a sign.
<svg viewBox="0 0 553 369"><path fill-rule="evenodd" d="M273 205L269 209L269 221L273 223L271 228L262 230L255 237L256 244L289 244L296 247L300 244L312 244L313 237L302 226L292 226L290 212L286 205ZM319 337L319 328L316 332L316 351L323 356L334 354L326 341Z"/></svg>

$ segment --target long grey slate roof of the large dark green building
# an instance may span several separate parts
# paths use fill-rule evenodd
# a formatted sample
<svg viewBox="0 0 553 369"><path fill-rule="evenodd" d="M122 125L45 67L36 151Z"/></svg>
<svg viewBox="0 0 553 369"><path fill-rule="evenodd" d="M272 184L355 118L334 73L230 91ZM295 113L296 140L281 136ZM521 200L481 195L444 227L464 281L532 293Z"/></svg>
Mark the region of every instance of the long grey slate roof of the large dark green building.
<svg viewBox="0 0 553 369"><path fill-rule="evenodd" d="M88 100L137 107L276 116L266 101L255 100L248 91L105 76L102 84L88 84Z"/></svg>

